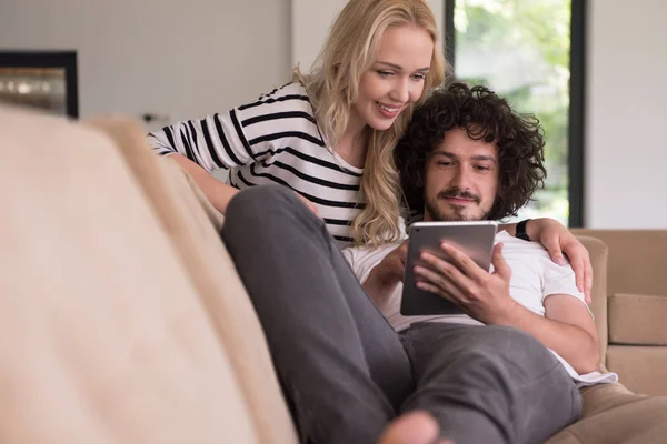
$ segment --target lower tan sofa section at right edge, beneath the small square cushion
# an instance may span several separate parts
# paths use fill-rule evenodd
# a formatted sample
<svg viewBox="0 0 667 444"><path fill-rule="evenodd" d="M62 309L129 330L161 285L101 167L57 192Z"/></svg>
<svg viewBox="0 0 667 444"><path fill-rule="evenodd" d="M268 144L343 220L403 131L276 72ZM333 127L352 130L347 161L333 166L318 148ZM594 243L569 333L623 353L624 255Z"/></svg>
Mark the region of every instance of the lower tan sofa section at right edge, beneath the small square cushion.
<svg viewBox="0 0 667 444"><path fill-rule="evenodd" d="M639 394L667 395L667 346L609 345L607 367Z"/></svg>

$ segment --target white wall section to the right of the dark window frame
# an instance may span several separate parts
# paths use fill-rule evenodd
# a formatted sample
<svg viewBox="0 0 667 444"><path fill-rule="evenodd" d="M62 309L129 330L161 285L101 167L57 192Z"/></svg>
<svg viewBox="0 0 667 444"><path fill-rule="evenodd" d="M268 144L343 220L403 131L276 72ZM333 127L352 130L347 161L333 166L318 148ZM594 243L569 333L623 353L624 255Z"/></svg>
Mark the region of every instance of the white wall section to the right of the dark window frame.
<svg viewBox="0 0 667 444"><path fill-rule="evenodd" d="M591 0L588 228L667 228L667 2Z"/></svg>

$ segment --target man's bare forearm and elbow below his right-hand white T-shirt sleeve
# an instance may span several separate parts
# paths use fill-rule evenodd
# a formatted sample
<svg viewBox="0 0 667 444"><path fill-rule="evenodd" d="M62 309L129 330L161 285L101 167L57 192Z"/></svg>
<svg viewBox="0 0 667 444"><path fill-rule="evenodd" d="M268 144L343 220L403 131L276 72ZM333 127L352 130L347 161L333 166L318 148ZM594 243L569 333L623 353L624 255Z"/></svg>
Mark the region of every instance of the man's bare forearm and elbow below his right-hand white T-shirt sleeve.
<svg viewBox="0 0 667 444"><path fill-rule="evenodd" d="M554 294L545 299L545 309L546 317L542 317L517 304L507 317L495 323L531 334L579 374L599 370L599 339L584 303L567 294Z"/></svg>

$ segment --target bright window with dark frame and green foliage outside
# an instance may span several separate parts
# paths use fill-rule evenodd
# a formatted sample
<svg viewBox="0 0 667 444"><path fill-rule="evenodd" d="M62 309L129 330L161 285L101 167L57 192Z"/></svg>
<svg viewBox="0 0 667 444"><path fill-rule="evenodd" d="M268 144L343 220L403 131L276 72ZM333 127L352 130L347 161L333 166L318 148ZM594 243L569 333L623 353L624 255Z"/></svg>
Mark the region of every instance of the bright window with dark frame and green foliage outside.
<svg viewBox="0 0 667 444"><path fill-rule="evenodd" d="M545 188L517 219L584 224L585 9L585 0L447 0L455 77L489 87L545 130Z"/></svg>

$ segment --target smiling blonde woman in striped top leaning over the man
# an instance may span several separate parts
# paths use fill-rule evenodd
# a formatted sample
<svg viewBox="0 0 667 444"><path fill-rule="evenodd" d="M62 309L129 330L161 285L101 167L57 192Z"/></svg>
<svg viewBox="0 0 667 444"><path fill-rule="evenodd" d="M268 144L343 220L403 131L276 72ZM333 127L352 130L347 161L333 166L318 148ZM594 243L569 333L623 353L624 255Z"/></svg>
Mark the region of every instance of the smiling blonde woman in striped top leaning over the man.
<svg viewBox="0 0 667 444"><path fill-rule="evenodd" d="M392 150L427 92L445 80L436 21L424 0L350 0L310 74L227 112L149 134L222 213L239 191L281 184L326 223L337 245L401 236ZM210 173L228 169L228 183ZM504 226L515 233L515 226ZM589 294L586 249L558 222L539 219L519 234L556 262L569 255ZM526 231L527 229L527 231Z"/></svg>

